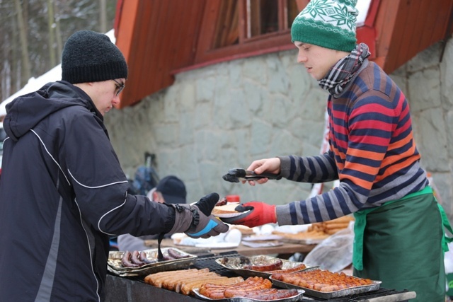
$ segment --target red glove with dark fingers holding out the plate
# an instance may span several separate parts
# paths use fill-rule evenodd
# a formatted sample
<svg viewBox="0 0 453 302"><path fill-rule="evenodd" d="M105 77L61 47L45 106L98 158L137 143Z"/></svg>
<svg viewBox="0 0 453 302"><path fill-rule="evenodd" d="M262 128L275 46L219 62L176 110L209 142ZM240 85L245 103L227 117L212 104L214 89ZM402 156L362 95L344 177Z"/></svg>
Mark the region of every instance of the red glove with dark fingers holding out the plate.
<svg viewBox="0 0 453 302"><path fill-rule="evenodd" d="M275 206L271 204L266 204L264 202L247 202L246 204L239 204L235 210L245 213L236 217L224 218L222 221L231 224L242 224L249 228L277 222Z"/></svg>

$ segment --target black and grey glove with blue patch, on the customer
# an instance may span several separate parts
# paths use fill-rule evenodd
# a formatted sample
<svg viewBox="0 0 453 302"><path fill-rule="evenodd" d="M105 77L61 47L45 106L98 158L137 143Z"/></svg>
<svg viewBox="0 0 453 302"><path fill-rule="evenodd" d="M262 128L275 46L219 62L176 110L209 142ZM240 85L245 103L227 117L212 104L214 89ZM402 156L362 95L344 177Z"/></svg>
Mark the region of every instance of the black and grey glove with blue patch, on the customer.
<svg viewBox="0 0 453 302"><path fill-rule="evenodd" d="M196 204L171 204L175 207L175 225L169 232L186 233L192 238L210 238L228 231L229 226L211 215L219 194L211 193L202 197Z"/></svg>

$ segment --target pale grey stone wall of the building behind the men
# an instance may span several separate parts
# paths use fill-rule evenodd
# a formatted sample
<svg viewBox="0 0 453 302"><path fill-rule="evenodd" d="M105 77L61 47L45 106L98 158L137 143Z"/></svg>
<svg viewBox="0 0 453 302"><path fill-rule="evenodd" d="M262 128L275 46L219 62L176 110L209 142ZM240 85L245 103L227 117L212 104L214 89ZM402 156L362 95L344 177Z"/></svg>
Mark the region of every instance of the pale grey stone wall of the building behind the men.
<svg viewBox="0 0 453 302"><path fill-rule="evenodd" d="M440 62L442 47L421 52L391 77L406 93L422 165L452 217L453 41ZM272 204L308 197L309 184L251 187L222 180L230 168L247 168L254 159L320 152L327 93L296 55L294 49L177 74L173 86L109 112L105 124L127 175L133 178L150 152L161 178L184 180L190 202L210 192Z"/></svg>

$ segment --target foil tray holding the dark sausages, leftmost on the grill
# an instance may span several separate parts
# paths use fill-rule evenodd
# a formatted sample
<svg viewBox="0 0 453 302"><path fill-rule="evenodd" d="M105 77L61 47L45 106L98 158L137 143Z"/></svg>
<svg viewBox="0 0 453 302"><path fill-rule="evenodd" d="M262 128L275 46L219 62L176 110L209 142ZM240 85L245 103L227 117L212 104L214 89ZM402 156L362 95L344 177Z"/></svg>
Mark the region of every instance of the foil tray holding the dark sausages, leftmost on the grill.
<svg viewBox="0 0 453 302"><path fill-rule="evenodd" d="M161 251L164 255L168 255L169 248L161 248ZM134 277L134 276L143 276L148 274L154 274L156 272L166 272L169 270L176 269L185 269L190 267L195 263L196 255L183 252L178 248L171 248L176 250L178 254L188 256L181 259L166 260L161 262L149 263L141 267L123 267L121 265L121 258L124 255L124 251L110 251L108 254L107 269L112 274L115 274L120 277ZM156 248L144 250L147 254L148 259L157 259L158 250Z"/></svg>

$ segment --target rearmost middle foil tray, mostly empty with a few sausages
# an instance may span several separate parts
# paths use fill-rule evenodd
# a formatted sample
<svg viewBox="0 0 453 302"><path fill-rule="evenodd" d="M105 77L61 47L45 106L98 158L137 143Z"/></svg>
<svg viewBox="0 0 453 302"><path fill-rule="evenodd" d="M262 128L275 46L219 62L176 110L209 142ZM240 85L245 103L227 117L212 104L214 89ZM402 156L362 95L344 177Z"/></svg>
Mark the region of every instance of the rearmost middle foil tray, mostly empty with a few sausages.
<svg viewBox="0 0 453 302"><path fill-rule="evenodd" d="M301 265L302 262L293 262L285 259L280 259L276 257L271 257L268 255L257 255L257 256L251 256L251 257L223 257L223 258L218 258L215 260L219 265L222 265L222 267L225 267L226 269L229 269L236 274L241 275L242 277L262 277L262 278L268 278L272 275L272 272L260 272L256 271L253 269L244 269L243 265L248 265L248 264L255 264L255 265L263 265L263 264L271 264L273 262L276 262L278 260L281 260L283 262L282 268L281 269L291 269L293 267L297 267L298 265ZM302 271L308 271L312 269L318 269L318 267L312 267L309 265L305 265L305 269L300 269L297 272L302 272Z"/></svg>

